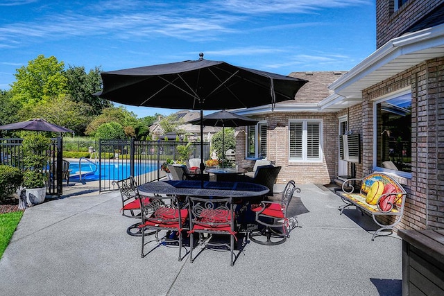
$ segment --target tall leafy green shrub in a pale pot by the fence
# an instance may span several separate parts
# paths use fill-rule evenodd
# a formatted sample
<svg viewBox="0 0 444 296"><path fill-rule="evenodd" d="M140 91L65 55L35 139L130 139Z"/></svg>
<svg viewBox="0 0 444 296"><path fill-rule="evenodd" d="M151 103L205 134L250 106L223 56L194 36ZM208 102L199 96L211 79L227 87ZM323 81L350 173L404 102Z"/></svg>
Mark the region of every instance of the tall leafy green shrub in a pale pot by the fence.
<svg viewBox="0 0 444 296"><path fill-rule="evenodd" d="M32 206L44 202L47 180L46 166L50 139L38 133L28 133L23 139L23 187L26 189L26 204Z"/></svg>

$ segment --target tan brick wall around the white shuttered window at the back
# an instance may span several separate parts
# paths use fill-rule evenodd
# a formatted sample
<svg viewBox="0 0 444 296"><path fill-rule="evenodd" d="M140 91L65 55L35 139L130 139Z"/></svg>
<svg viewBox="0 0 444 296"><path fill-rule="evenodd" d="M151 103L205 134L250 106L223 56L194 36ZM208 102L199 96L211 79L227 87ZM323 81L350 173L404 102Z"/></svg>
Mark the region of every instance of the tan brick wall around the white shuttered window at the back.
<svg viewBox="0 0 444 296"><path fill-rule="evenodd" d="M271 112L253 119L267 122L267 159L282 166L278 183L294 180L298 184L329 184L336 176L338 162L338 118L333 113ZM289 162L289 120L322 119L323 162ZM236 162L241 167L253 166L255 160L245 159L246 133L236 132Z"/></svg>

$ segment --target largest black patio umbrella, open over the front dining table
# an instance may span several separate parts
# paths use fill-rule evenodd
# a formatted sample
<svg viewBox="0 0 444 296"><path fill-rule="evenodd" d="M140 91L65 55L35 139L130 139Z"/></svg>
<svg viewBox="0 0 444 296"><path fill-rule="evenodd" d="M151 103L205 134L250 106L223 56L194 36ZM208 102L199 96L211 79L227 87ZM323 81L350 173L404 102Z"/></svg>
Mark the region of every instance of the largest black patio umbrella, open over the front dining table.
<svg viewBox="0 0 444 296"><path fill-rule="evenodd" d="M113 102L170 109L223 110L293 100L307 80L198 60L102 72L103 90ZM200 171L203 172L203 125L200 125Z"/></svg>

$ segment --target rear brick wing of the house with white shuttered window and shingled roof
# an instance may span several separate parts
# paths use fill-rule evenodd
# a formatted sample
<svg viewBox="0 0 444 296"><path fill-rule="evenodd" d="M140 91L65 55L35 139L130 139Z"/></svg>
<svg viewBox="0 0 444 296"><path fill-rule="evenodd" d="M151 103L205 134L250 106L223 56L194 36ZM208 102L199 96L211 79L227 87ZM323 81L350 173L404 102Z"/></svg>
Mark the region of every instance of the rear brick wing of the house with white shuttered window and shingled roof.
<svg viewBox="0 0 444 296"><path fill-rule="evenodd" d="M259 121L246 130L237 129L236 149L239 166L253 166L255 159L266 158L282 166L278 182L328 184L338 162L338 119L334 112L321 110L332 94L328 86L345 71L293 72L289 76L308 80L296 100L237 111ZM306 133L310 133L307 134Z"/></svg>

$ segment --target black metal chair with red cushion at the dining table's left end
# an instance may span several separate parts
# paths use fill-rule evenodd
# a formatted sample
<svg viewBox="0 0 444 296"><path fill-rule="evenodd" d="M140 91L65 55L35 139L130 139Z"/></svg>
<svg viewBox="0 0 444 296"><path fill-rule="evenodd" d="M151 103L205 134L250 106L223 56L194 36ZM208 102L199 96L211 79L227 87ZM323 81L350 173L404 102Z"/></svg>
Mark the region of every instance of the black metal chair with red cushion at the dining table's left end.
<svg viewBox="0 0 444 296"><path fill-rule="evenodd" d="M142 222L142 214L140 212L140 198L139 190L137 189L137 183L133 176L127 177L126 179L113 181L113 186L117 186L120 191L122 199L121 212L122 216L129 218L139 219L140 222L130 225L126 232L132 236L141 236L139 225ZM145 199L144 202L149 202L149 198ZM153 232L154 233L154 232ZM151 234L153 234L151 233Z"/></svg>

